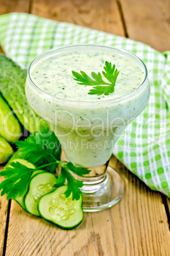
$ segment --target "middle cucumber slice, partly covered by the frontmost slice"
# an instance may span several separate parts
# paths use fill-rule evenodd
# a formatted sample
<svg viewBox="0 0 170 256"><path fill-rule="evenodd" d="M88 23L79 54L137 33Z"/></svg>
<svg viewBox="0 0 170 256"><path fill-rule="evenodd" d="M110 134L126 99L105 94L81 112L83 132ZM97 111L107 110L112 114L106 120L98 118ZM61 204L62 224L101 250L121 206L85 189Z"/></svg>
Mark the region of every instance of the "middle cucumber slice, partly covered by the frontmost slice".
<svg viewBox="0 0 170 256"><path fill-rule="evenodd" d="M39 199L45 194L55 190L53 185L56 183L55 174L44 172L36 174L29 183L29 189L24 197L25 208L32 215L39 216L37 205Z"/></svg>

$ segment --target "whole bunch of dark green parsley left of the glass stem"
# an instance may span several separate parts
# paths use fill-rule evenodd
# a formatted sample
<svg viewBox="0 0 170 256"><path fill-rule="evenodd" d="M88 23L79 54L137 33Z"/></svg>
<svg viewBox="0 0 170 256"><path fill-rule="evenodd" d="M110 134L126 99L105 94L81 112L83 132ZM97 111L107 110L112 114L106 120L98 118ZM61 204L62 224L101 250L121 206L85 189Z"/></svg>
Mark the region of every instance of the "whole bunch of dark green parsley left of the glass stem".
<svg viewBox="0 0 170 256"><path fill-rule="evenodd" d="M79 200L82 194L79 188L82 187L82 181L76 180L70 171L73 173L84 176L90 172L88 169L82 167L75 167L71 162L60 160L61 146L56 138L54 132L46 130L46 144L44 145L44 136L39 133L35 133L25 141L17 141L16 145L20 151L22 159L28 160L36 166L36 169L30 169L20 162L10 162L4 170L0 172L0 176L4 176L5 180L0 183L1 196L6 194L7 199L16 199L22 196L27 188L30 180L30 176L33 171L39 169L46 169L50 172L54 172L58 164L62 167L60 176L56 181L55 187L60 187L67 181L67 190L65 192L66 197L72 194L72 199ZM54 143L54 147L49 145Z"/></svg>

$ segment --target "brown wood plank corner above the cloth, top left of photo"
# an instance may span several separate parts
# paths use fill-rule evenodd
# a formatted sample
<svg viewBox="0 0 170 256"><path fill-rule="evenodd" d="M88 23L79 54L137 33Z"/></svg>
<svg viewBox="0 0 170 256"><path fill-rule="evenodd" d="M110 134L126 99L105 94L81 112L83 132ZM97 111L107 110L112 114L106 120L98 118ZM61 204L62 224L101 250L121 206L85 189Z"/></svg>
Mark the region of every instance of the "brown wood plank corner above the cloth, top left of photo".
<svg viewBox="0 0 170 256"><path fill-rule="evenodd" d="M0 0L0 15L14 11L28 13L29 4L29 0Z"/></svg>

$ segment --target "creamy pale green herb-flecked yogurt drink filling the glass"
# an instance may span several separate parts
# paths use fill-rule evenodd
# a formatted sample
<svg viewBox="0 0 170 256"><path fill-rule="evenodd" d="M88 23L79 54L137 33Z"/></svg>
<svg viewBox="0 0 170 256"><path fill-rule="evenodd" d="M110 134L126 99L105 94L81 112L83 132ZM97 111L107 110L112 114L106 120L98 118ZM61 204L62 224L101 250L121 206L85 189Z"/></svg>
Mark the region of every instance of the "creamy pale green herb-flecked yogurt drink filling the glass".
<svg viewBox="0 0 170 256"><path fill-rule="evenodd" d="M80 50L77 46L69 49L70 52L65 53L59 51L56 54L58 50L51 52L49 57L40 58L32 66L32 81L37 78L35 83L44 93L27 80L26 96L33 110L47 120L60 139L70 162L85 168L96 167L96 164L101 166L112 155L121 132L147 105L150 87L147 80L141 87L138 85L145 79L145 71L144 66L133 56L128 58L123 52L113 56L114 49L108 52L105 48L105 51L99 52L98 47L93 46L91 50L86 50L86 46ZM107 82L102 73L105 65L102 60L115 64L120 71L114 93L107 96L88 94L93 85L78 85L73 79L72 70L83 70L86 74L100 72ZM67 71L63 72L66 68ZM44 73L48 78L44 78ZM47 83L49 80L50 83ZM131 94L134 90L136 92ZM119 145L121 148L131 146Z"/></svg>

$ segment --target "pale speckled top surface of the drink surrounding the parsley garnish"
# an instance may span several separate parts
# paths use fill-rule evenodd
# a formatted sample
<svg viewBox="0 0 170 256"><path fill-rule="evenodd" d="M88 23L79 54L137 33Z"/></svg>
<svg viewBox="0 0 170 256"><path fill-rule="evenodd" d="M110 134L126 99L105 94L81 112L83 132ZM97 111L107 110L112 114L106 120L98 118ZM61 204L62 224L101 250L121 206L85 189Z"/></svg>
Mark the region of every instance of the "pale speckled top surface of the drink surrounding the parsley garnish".
<svg viewBox="0 0 170 256"><path fill-rule="evenodd" d="M115 64L117 70L120 71L114 93L107 96L102 94L100 97L96 94L88 94L89 90L93 89L95 85L78 85L77 81L73 79L72 70L75 72L83 70L88 75L91 74L91 71L100 72L102 79L108 82L102 73L105 60ZM121 54L115 53L112 55L110 52L100 52L98 50L88 52L72 50L69 53L55 53L36 64L30 75L39 89L44 90L51 96L75 101L105 101L122 97L138 88L145 78L143 69L133 60ZM139 80L139 78L141 79ZM65 90L62 88L65 88Z"/></svg>

